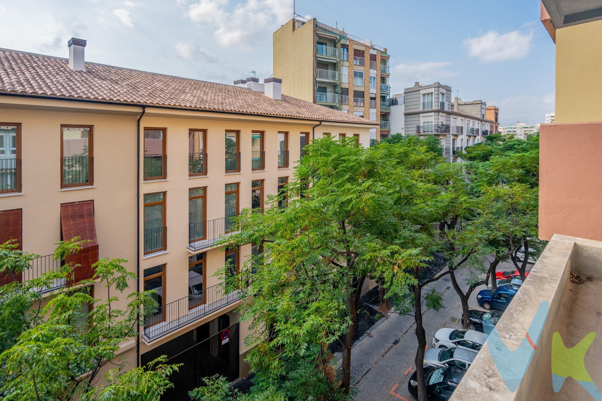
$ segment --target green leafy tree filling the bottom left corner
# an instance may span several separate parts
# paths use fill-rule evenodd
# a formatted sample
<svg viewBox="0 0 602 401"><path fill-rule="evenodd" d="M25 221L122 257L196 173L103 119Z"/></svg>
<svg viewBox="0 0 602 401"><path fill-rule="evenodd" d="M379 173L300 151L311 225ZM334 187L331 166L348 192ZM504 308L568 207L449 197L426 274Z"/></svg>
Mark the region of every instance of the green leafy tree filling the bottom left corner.
<svg viewBox="0 0 602 401"><path fill-rule="evenodd" d="M69 260L81 249L78 237L58 242L55 260ZM24 271L35 257L14 245L0 245L0 273ZM31 303L31 311L18 324L5 331L2 327L0 354L0 395L3 400L135 400L155 401L172 386L169 375L178 366L166 365L165 357L144 367L128 369L126 361L117 360L119 347L137 335L138 318L157 307L152 292L131 292L125 309L117 308L119 295L135 280L123 259L101 259L93 268L92 280L75 288L55 290L46 305ZM67 282L75 266L67 264L35 280L0 287L0 317L22 313L26 304L40 301L37 289L51 286L57 279ZM104 297L90 296L90 284L104 285ZM100 291L98 291L100 293ZM10 300L10 302L4 302ZM84 305L92 305L84 310ZM109 369L108 367L113 367ZM107 371L108 370L108 371ZM101 373L106 385L99 386Z"/></svg>

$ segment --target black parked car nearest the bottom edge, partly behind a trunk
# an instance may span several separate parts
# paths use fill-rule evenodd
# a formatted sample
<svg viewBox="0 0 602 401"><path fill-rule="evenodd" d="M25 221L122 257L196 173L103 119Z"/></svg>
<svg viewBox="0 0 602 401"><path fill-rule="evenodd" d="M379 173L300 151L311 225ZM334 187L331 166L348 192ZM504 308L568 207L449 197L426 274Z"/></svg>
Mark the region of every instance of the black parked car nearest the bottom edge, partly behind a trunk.
<svg viewBox="0 0 602 401"><path fill-rule="evenodd" d="M429 400L447 401L456 390L466 370L457 366L424 367L424 382ZM412 396L418 397L417 373L412 373L408 381L408 391Z"/></svg>

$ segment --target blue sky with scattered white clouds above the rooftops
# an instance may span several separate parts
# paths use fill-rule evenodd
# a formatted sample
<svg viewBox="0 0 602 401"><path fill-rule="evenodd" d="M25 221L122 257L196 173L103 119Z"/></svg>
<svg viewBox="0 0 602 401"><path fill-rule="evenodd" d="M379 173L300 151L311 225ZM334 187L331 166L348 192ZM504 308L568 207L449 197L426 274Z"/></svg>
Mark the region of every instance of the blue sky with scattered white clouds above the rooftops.
<svg viewBox="0 0 602 401"><path fill-rule="evenodd" d="M504 125L554 111L539 0L297 0L295 11L386 47L392 93L439 81L498 106ZM232 84L272 75L272 33L292 15L293 0L0 0L0 47L68 57L78 37L86 61Z"/></svg>

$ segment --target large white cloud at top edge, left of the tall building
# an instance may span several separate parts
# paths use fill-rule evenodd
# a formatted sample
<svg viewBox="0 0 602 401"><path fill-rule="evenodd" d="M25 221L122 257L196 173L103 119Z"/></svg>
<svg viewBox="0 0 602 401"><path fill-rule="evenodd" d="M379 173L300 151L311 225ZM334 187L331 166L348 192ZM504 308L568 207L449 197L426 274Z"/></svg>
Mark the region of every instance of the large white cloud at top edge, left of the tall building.
<svg viewBox="0 0 602 401"><path fill-rule="evenodd" d="M259 32L272 32L293 13L292 0L246 0L227 10L228 5L228 0L199 0L188 6L187 16L193 22L213 26L221 46L246 47Z"/></svg>

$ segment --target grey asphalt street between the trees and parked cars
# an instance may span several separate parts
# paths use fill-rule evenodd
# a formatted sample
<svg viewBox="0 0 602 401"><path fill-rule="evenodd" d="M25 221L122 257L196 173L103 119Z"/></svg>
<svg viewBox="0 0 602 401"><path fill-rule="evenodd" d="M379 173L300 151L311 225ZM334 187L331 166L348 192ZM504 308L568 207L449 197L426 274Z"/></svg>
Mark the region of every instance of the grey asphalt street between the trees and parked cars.
<svg viewBox="0 0 602 401"><path fill-rule="evenodd" d="M514 269L511 265L500 265L497 271ZM527 268L529 270L530 267ZM466 287L464 275L459 275L458 282ZM431 286L443 293L445 308L438 312L425 311L423 314L426 343L429 347L432 347L433 334L438 329L462 328L462 307L450 278L443 277L426 289ZM477 304L476 296L485 288L481 286L474 290L469 301L471 308L483 310ZM417 341L414 317L389 313L378 323L352 349L352 377L358 390L354 400L412 401L414 397L408 392L408 380L415 370Z"/></svg>

